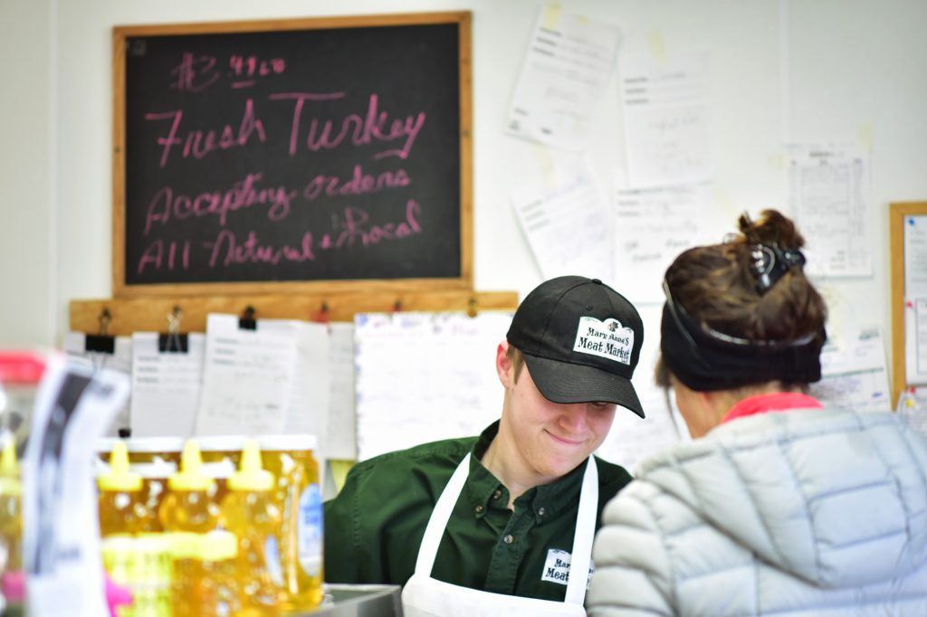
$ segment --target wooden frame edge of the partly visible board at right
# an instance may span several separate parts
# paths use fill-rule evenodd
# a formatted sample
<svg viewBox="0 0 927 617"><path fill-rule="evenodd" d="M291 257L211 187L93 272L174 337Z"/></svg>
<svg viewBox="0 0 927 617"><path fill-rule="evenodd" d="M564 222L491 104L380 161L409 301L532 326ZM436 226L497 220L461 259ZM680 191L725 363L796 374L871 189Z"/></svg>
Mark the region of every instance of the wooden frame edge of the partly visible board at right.
<svg viewBox="0 0 927 617"><path fill-rule="evenodd" d="M889 251L892 300L892 402L908 387L908 356L905 353L905 217L927 215L927 201L889 205Z"/></svg>

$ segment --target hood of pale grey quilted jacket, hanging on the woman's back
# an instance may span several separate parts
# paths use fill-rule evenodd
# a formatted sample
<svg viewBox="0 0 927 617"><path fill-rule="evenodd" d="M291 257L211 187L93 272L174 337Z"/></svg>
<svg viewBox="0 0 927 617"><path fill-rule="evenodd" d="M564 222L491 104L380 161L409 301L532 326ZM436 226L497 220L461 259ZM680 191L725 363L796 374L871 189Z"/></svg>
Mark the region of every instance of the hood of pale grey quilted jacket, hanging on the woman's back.
<svg viewBox="0 0 927 617"><path fill-rule="evenodd" d="M927 559L927 446L891 413L774 412L725 423L639 477L722 534L822 587Z"/></svg>

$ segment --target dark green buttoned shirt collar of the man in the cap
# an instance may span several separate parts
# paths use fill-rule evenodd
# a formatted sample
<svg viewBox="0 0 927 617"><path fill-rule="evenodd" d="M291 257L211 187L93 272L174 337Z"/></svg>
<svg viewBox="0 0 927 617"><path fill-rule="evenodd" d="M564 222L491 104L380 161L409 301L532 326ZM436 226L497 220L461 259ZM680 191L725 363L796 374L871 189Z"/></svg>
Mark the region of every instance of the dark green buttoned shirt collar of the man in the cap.
<svg viewBox="0 0 927 617"><path fill-rule="evenodd" d="M479 435L471 450L470 475L467 478L466 491L471 508L476 518L486 516L489 508L507 509L509 490L496 476L480 462L489 444L499 434L499 421L492 422ZM535 486L515 499L516 508L529 508L538 523L552 520L560 510L578 503L579 490L582 488L582 476L585 463L578 465L572 472L549 485Z"/></svg>

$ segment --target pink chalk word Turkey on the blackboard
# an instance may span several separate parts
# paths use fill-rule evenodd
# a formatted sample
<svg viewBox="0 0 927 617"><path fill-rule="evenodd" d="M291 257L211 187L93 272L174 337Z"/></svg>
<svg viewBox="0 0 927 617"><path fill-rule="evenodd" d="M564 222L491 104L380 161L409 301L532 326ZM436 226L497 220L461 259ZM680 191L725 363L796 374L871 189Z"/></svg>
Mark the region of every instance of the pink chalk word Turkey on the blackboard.
<svg viewBox="0 0 927 617"><path fill-rule="evenodd" d="M339 93L342 96L344 93ZM375 159L383 157L400 157L406 159L412 151L415 138L425 124L425 112L406 116L404 119L395 118L389 121L387 111L379 110L379 97L371 94L367 111L363 118L359 114L349 114L341 120L340 128L333 120L319 120L312 118L306 123L308 131L303 132L303 110L306 101L318 100L317 94L309 93L281 93L271 94L271 100L292 100L293 120L290 123L289 154L293 156L298 150L300 139L312 152L319 150L332 150L346 140L353 145L370 145L374 142L391 143L401 140L401 147L392 147L381 150L373 156ZM388 127L388 128L387 128Z"/></svg>

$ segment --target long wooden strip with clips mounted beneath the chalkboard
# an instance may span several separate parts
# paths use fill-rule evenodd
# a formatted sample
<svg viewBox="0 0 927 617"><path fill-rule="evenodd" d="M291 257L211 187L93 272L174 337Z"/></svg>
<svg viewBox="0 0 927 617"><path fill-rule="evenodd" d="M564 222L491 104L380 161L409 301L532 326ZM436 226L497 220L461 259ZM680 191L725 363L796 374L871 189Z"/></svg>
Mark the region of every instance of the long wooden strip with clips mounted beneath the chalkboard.
<svg viewBox="0 0 927 617"><path fill-rule="evenodd" d="M405 311L514 310L518 294L512 292L433 291L408 293L333 294L319 296L171 296L72 300L70 329L95 333L104 310L109 311L108 334L164 330L165 315L183 310L183 332L204 332L209 313L241 315L254 309L257 319L352 321L356 313Z"/></svg>

